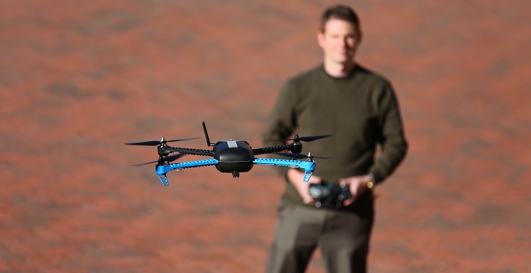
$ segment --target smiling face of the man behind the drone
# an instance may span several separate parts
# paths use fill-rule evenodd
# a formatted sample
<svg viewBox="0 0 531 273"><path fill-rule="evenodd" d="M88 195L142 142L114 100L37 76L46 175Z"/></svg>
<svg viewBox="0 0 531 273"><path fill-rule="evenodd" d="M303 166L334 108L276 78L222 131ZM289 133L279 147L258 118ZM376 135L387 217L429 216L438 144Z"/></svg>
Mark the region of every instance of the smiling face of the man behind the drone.
<svg viewBox="0 0 531 273"><path fill-rule="evenodd" d="M324 33L317 33L317 43L324 52L324 60L344 65L354 62L361 33L348 21L331 18L324 25Z"/></svg>

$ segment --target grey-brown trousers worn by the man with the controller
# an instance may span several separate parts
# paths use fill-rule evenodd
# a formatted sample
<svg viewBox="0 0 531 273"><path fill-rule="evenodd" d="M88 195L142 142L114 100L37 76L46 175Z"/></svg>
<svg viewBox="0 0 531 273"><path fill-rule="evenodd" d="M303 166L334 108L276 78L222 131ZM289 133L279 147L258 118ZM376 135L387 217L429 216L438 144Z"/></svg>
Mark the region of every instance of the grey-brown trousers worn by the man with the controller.
<svg viewBox="0 0 531 273"><path fill-rule="evenodd" d="M366 273L373 213L363 214L281 204L265 272L303 273L319 247L328 273Z"/></svg>

